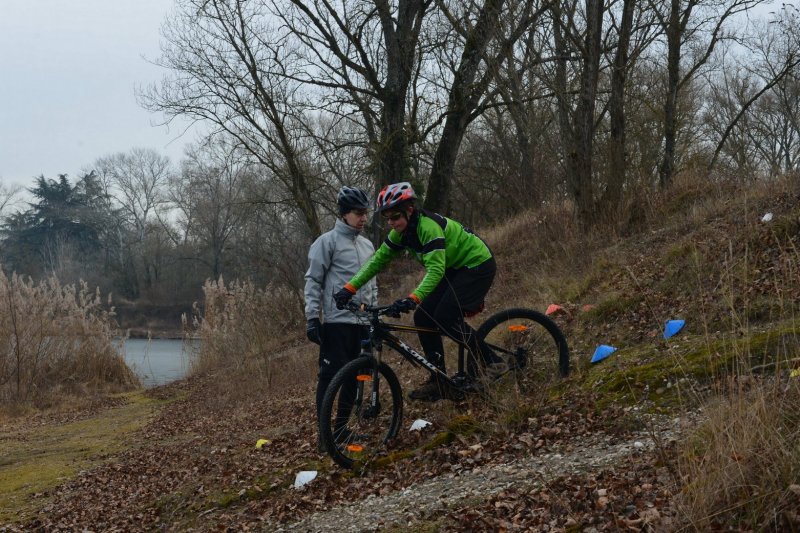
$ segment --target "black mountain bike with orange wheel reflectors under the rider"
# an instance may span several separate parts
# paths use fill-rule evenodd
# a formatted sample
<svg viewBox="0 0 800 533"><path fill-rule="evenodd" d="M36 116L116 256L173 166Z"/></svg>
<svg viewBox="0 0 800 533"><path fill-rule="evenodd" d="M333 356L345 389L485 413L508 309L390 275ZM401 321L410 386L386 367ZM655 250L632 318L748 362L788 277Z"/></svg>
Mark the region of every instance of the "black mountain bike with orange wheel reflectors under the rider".
<svg viewBox="0 0 800 533"><path fill-rule="evenodd" d="M424 356L406 344L393 331L426 332L443 335L438 328L422 328L384 322L392 306L358 306L348 309L369 322L369 336L362 343L362 353L337 372L322 401L319 431L326 452L334 462L351 469L366 466L387 449L397 436L403 418L403 393L394 371L382 360L383 346L398 352L413 366L420 366L446 391L445 397L461 400L468 394L486 393L491 380L481 379L479 365L466 357L465 346L457 343L458 371L448 376ZM395 318L399 314L388 315ZM553 320L532 309L513 308L490 316L476 330L508 363L519 382L540 383L552 375L569 374L569 347L564 334ZM487 383L488 381L488 383ZM388 389L388 390L387 390Z"/></svg>

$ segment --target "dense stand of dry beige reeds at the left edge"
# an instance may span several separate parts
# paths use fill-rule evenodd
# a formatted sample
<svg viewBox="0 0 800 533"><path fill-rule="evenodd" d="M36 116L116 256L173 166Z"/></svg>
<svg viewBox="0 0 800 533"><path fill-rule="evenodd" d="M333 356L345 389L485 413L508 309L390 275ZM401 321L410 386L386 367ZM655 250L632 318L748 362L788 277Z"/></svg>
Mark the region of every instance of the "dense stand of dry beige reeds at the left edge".
<svg viewBox="0 0 800 533"><path fill-rule="evenodd" d="M112 310L85 283L41 283L0 271L0 405L46 407L139 387L114 347Z"/></svg>

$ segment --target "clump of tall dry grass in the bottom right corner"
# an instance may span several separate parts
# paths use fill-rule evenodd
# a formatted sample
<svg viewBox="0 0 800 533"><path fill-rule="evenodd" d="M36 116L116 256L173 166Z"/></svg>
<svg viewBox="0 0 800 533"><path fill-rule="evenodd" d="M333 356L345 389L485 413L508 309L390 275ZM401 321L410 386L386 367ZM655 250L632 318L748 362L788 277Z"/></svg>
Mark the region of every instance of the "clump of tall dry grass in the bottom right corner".
<svg viewBox="0 0 800 533"><path fill-rule="evenodd" d="M681 509L698 531L800 527L800 385L758 380L714 400L684 444Z"/></svg>

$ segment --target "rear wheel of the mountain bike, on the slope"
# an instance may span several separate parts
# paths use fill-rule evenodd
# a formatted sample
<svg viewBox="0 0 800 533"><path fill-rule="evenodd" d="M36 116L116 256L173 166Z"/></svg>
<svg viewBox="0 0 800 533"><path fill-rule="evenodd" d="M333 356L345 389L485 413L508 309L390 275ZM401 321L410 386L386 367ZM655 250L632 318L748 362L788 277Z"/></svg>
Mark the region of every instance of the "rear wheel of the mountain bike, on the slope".
<svg viewBox="0 0 800 533"><path fill-rule="evenodd" d="M505 359L524 384L569 374L567 340L558 325L543 313L506 309L486 319L477 334Z"/></svg>

